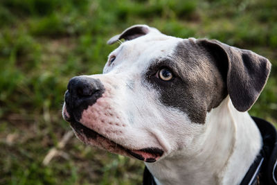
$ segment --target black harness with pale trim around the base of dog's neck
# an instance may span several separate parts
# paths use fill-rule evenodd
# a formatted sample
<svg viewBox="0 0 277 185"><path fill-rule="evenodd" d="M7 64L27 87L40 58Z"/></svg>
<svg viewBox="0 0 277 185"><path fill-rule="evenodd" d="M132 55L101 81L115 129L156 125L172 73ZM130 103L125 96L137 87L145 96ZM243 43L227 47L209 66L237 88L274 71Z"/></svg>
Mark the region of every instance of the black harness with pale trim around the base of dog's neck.
<svg viewBox="0 0 277 185"><path fill-rule="evenodd" d="M275 127L261 118L252 118L262 135L263 146L240 185L277 184L277 133ZM157 185L146 166L143 173L143 185Z"/></svg>

